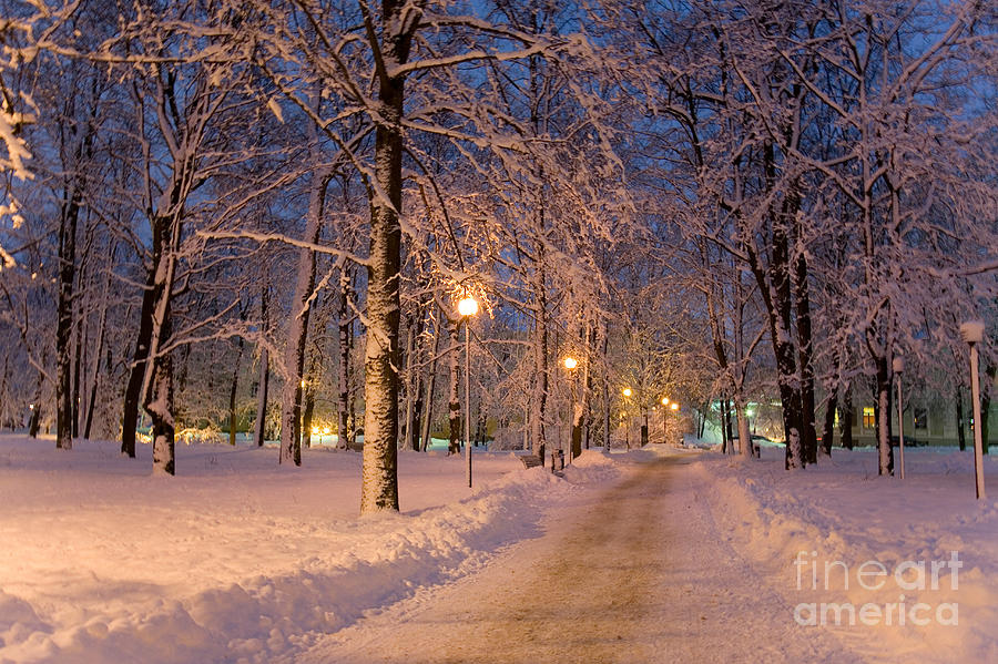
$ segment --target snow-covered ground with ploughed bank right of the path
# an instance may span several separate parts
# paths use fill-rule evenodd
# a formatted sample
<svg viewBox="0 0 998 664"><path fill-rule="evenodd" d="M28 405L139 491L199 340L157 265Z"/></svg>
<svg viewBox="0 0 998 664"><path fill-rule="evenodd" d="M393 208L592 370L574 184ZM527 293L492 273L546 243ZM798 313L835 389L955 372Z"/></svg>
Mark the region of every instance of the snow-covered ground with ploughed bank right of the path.
<svg viewBox="0 0 998 664"><path fill-rule="evenodd" d="M970 452L906 457L905 480L878 478L873 450L795 473L782 449L697 470L732 543L794 607L774 620L827 630L873 662L996 662L998 502L975 500ZM990 458L986 473L998 496Z"/></svg>

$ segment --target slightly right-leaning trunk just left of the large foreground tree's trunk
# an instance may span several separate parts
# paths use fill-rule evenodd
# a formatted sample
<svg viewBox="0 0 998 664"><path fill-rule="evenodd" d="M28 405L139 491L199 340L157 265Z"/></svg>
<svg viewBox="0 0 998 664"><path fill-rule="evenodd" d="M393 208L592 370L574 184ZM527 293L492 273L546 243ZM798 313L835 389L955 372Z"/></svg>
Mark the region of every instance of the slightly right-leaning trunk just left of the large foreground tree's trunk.
<svg viewBox="0 0 998 664"><path fill-rule="evenodd" d="M308 212L305 223L305 242L318 242L322 231L323 211L326 202L326 185L329 174L316 171L312 174L308 193ZM284 368L287 380L281 398L281 450L278 463L302 464L302 395L305 374L305 344L308 339L308 316L310 296L315 286L315 252L303 248L298 252L298 270L295 293L292 296L292 318L287 328L287 345L284 350Z"/></svg>

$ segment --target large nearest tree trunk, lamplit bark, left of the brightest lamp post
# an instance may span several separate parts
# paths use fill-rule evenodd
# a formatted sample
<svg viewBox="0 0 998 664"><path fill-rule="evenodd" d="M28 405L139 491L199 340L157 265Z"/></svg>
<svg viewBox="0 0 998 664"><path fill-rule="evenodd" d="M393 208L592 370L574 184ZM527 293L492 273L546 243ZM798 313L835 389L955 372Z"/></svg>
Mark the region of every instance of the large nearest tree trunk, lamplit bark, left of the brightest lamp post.
<svg viewBox="0 0 998 664"><path fill-rule="evenodd" d="M404 19L407 4L381 3L381 53L385 63L401 64L409 55L419 21ZM364 461L360 513L398 510L398 324L401 252L400 122L405 74L383 69L378 76L374 177L370 192L370 251L367 264L367 353L364 376ZM385 198L387 196L387 200Z"/></svg>

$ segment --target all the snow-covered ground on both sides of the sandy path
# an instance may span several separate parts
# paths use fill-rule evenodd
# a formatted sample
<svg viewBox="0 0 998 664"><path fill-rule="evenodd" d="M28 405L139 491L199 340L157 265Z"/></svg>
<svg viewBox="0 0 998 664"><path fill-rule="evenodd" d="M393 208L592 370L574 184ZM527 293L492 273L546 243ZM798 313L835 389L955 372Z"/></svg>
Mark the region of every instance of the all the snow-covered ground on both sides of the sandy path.
<svg viewBox="0 0 998 664"><path fill-rule="evenodd" d="M563 479L478 453L473 492L462 459L401 453L401 513L358 519L353 452L306 450L295 469L272 448L181 446L166 478L151 474L146 447L128 460L115 443L64 452L2 435L0 663L294 662L371 612L529 553L552 515L674 453L652 447L587 452ZM877 478L868 450L796 473L782 449L748 463L683 453L697 461L683 467L682 500L706 504L717 551L781 599L762 611L798 643L819 630L857 661L998 661L998 502L975 500L970 453L909 450L904 481ZM998 496L998 466L986 467ZM682 596L691 611L706 601L696 588Z"/></svg>

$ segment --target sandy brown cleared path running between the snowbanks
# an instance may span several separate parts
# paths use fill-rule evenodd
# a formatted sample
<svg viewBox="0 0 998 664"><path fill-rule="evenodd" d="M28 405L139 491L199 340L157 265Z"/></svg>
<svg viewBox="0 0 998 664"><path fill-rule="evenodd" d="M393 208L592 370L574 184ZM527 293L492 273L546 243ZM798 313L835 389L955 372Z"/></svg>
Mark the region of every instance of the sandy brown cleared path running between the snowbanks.
<svg viewBox="0 0 998 664"><path fill-rule="evenodd" d="M326 637L297 664L856 662L726 543L682 458L640 467L481 572Z"/></svg>

